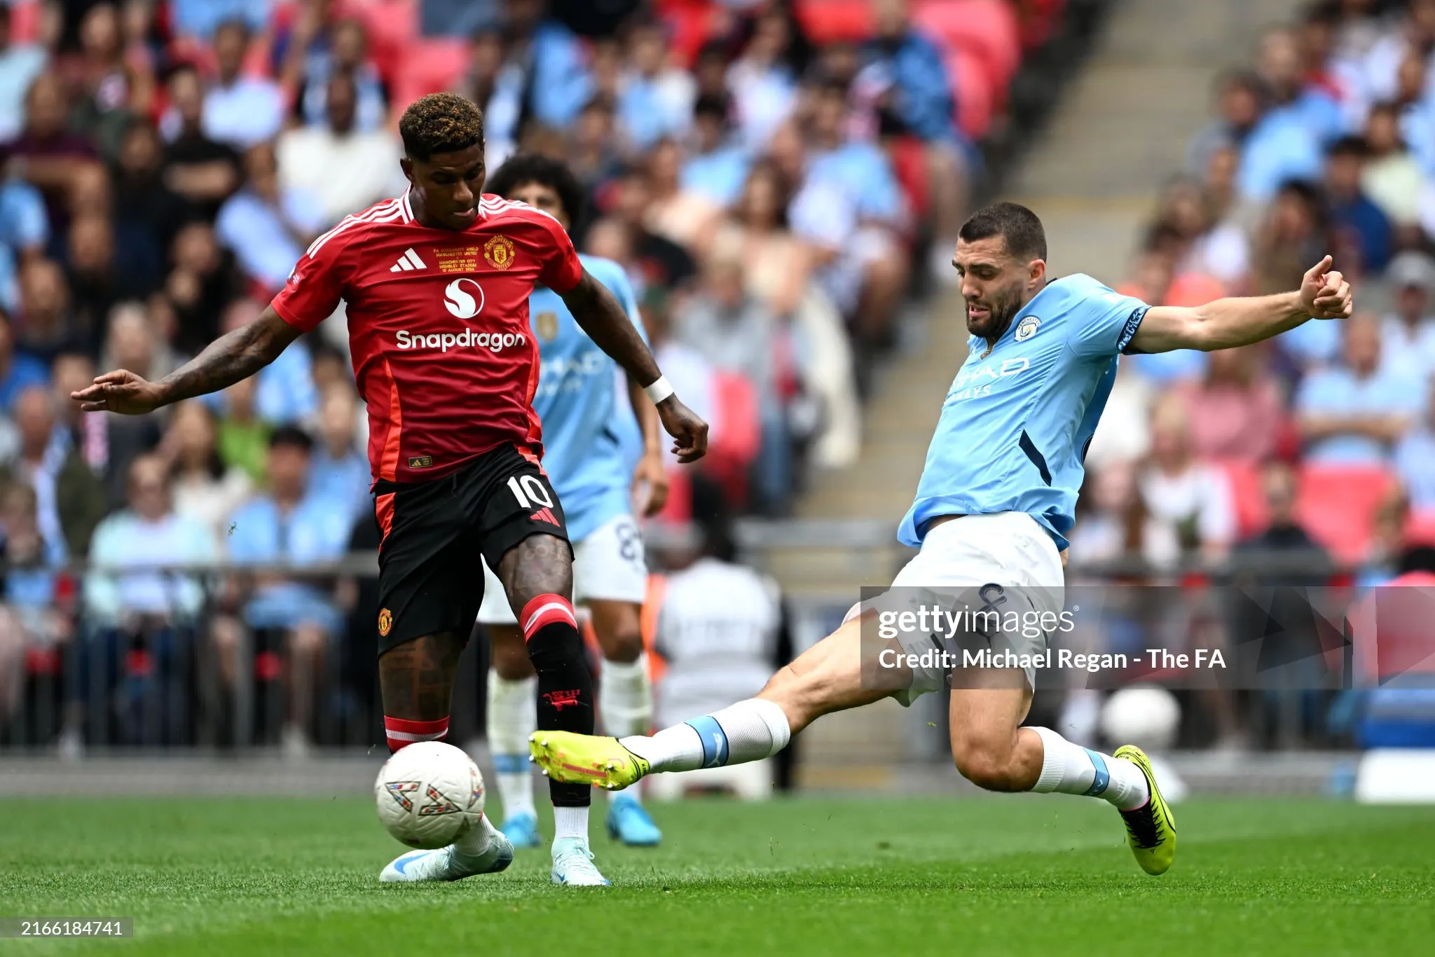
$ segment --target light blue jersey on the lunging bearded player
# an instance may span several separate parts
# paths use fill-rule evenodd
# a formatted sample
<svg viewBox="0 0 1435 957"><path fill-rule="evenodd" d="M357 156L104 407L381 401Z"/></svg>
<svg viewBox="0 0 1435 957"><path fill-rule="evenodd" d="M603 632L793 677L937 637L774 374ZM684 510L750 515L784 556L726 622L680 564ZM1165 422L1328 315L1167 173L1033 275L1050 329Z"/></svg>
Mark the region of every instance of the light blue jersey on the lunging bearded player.
<svg viewBox="0 0 1435 957"><path fill-rule="evenodd" d="M1026 512L1066 548L1086 446L1147 308L1076 274L1038 293L990 353L973 336L897 538L921 545L941 515Z"/></svg>

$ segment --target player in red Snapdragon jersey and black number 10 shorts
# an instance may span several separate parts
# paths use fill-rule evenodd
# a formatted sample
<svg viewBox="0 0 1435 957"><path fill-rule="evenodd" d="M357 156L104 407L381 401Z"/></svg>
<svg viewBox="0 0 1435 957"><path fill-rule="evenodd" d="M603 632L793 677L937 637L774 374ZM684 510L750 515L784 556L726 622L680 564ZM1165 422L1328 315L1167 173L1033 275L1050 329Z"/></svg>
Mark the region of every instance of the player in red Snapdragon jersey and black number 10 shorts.
<svg viewBox="0 0 1435 957"><path fill-rule="evenodd" d="M376 630L390 750L448 733L458 659L484 593L479 555L498 571L538 673L538 727L591 733L593 677L570 604L573 550L540 465L532 410L534 286L558 293L593 341L649 383L679 461L703 455L707 425L673 395L558 221L484 195L484 116L472 102L423 96L399 132L409 189L314 240L255 321L159 382L108 372L72 397L88 412L144 415L217 392L273 362L344 300L383 532ZM564 859L555 854L552 880L607 884L587 848L590 786L550 786L555 829L584 835ZM405 854L380 878L458 880L511 859L512 845L485 818L455 845Z"/></svg>

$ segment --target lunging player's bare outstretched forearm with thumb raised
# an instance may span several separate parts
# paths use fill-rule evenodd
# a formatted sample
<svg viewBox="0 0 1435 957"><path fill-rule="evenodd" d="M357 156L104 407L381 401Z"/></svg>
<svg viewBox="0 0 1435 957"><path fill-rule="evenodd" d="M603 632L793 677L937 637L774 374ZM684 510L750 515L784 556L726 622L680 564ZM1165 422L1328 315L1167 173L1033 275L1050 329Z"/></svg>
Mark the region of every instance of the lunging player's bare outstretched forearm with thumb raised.
<svg viewBox="0 0 1435 957"><path fill-rule="evenodd" d="M1312 267L1293 293L1218 298L1190 308L1152 306L1129 350L1234 349L1279 336L1309 319L1346 319L1350 316L1350 284L1340 273L1330 271L1330 264L1327 255Z"/></svg>

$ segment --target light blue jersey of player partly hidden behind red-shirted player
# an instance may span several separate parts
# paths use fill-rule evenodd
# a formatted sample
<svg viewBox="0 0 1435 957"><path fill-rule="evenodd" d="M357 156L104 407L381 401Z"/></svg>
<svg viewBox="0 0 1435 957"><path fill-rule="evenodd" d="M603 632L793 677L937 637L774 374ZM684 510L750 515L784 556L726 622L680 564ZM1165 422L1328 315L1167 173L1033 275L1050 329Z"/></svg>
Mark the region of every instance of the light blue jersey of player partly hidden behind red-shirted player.
<svg viewBox="0 0 1435 957"><path fill-rule="evenodd" d="M596 255L578 258L617 297L643 334L623 267ZM534 410L542 422L542 466L563 502L568 537L577 542L614 515L631 511L633 466L614 429L617 405L627 397L618 395L617 363L588 339L557 293L535 288L528 298L528 321L538 341Z"/></svg>

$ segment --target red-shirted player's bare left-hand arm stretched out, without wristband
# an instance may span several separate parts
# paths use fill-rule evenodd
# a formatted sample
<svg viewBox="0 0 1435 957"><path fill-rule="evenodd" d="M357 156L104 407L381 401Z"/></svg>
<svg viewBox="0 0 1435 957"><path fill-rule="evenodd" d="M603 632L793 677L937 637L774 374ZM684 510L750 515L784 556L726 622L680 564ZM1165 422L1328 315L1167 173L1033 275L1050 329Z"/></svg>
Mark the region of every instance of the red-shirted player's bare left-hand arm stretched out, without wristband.
<svg viewBox="0 0 1435 957"><path fill-rule="evenodd" d="M253 323L220 336L202 353L159 382L146 382L132 372L118 369L98 376L92 386L72 392L70 399L80 402L85 412L144 415L182 399L218 392L253 376L274 362L298 336L300 330L280 319L270 306Z"/></svg>

